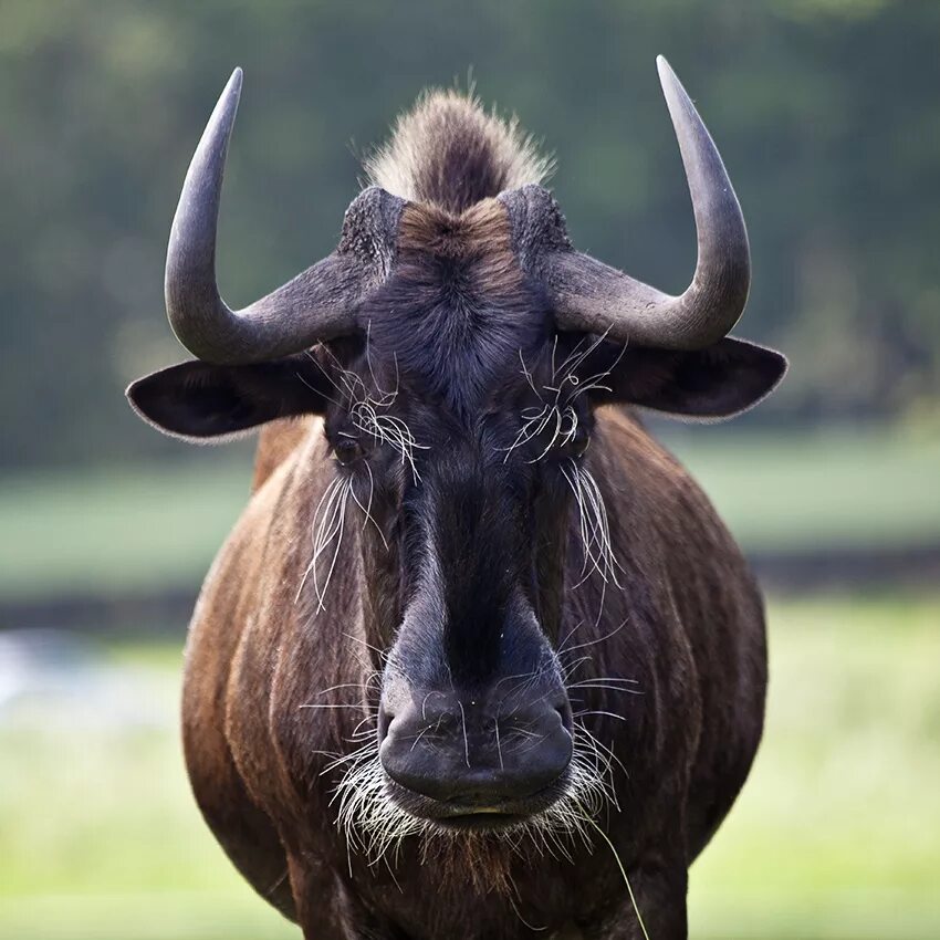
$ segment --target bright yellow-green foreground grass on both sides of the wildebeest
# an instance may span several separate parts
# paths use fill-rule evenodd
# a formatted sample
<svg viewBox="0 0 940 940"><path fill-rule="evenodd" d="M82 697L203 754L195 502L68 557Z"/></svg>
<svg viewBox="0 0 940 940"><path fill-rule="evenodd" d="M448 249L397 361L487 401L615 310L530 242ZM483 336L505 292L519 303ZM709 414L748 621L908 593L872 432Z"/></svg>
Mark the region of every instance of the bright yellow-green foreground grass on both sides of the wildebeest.
<svg viewBox="0 0 940 940"><path fill-rule="evenodd" d="M940 595L772 603L766 735L692 869L693 938L940 937L938 627ZM101 661L136 723L45 702L0 725L0 940L299 940L192 805L178 648Z"/></svg>

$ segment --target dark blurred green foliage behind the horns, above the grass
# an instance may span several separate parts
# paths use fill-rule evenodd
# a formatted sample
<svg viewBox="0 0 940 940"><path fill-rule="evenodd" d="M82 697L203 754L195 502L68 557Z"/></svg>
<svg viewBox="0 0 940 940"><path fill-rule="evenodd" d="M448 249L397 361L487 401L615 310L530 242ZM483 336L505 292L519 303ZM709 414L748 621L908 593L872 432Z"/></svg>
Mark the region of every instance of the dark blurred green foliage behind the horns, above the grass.
<svg viewBox="0 0 940 940"><path fill-rule="evenodd" d="M233 302L325 254L356 155L471 66L480 95L555 152L576 243L681 289L693 223L662 52L750 221L741 332L793 358L758 420L922 416L940 390L938 48L932 0L4 0L0 461L174 446L121 391L182 357L163 314L166 238L236 64L219 272Z"/></svg>

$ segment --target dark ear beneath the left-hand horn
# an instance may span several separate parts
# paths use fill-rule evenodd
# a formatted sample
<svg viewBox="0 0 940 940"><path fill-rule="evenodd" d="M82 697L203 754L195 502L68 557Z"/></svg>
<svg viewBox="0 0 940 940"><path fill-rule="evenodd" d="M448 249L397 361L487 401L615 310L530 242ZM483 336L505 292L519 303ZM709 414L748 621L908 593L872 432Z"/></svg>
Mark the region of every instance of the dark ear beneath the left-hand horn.
<svg viewBox="0 0 940 940"><path fill-rule="evenodd" d="M328 379L305 355L247 366L180 363L138 378L126 391L147 424L202 443L275 418L323 414L328 394Z"/></svg>

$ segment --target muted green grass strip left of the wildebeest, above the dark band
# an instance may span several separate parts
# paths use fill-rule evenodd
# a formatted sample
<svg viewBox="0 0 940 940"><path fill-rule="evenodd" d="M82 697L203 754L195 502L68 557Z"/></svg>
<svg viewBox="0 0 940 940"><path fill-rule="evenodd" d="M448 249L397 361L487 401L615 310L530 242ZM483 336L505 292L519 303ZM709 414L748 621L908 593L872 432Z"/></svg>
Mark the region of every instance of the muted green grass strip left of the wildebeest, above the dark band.
<svg viewBox="0 0 940 940"><path fill-rule="evenodd" d="M248 500L251 463L42 473L0 483L0 596L198 584Z"/></svg>

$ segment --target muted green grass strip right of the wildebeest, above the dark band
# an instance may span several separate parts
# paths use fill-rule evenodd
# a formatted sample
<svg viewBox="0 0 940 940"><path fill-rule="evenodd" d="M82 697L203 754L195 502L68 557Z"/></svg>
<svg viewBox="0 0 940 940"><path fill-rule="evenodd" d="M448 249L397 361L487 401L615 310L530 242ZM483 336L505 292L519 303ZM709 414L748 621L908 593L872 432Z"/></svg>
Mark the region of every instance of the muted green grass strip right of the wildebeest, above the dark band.
<svg viewBox="0 0 940 940"><path fill-rule="evenodd" d="M940 544L940 438L706 427L669 442L748 549Z"/></svg>

